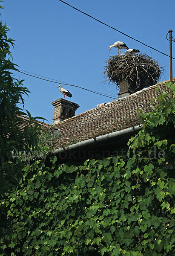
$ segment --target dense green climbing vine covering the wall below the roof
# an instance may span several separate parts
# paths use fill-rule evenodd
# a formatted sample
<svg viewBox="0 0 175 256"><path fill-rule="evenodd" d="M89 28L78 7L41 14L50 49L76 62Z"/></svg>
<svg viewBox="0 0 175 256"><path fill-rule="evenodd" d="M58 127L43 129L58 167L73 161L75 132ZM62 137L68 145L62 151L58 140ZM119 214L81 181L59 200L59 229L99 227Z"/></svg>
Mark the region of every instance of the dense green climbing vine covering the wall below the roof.
<svg viewBox="0 0 175 256"><path fill-rule="evenodd" d="M0 201L1 255L175 255L175 98L151 106L125 157L25 166Z"/></svg>

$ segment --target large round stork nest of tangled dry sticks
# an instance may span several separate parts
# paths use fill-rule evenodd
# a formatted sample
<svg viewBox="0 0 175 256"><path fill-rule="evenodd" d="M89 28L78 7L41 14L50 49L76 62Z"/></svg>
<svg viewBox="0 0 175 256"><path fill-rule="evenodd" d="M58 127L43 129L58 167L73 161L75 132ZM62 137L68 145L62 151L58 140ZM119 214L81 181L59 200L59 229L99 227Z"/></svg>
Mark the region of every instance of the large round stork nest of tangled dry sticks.
<svg viewBox="0 0 175 256"><path fill-rule="evenodd" d="M140 53L110 56L104 73L109 78L109 83L112 82L117 87L127 80L129 90L135 92L156 84L163 70L151 56Z"/></svg>

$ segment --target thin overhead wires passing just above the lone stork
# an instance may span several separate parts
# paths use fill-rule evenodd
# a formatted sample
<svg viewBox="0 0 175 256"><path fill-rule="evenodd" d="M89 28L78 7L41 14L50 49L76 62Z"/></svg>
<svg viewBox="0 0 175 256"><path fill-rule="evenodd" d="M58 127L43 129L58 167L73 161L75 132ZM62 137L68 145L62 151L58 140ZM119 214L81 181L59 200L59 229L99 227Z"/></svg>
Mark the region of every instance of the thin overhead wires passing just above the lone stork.
<svg viewBox="0 0 175 256"><path fill-rule="evenodd" d="M32 77L35 77L35 78L37 78L37 79L41 79L41 80L44 80L44 81L52 82L52 83L55 83L55 84L64 84L64 85L68 85L68 86L73 86L73 87L77 87L77 88L80 88L80 89L89 91L89 92L91 92L91 93L96 93L96 94L102 95L102 96L104 96L104 97L108 97L108 98L111 98L111 99L117 99L116 97L107 96L107 95L109 95L109 94L99 93L99 92L96 92L96 91L93 91L93 90L89 90L89 89L86 89L86 88L77 86L77 85L75 85L75 84L67 84L67 83L60 82L60 81L57 82L58 80L52 81L52 80L55 80L55 79L52 79L52 80L50 80L50 79L44 79L44 78L38 77L38 76L40 76L40 75L34 76L34 75L31 75L32 73L31 73L31 74L27 74L27 73L29 73L28 71L25 71L25 72L22 72L22 71L20 71L20 70L16 70L16 71L18 71L18 72L20 72L20 73L22 73L22 74L25 74L25 75L27 75L27 76L32 76ZM27 72L27 73L26 73L26 72ZM42 77L43 77L43 76L42 76Z"/></svg>

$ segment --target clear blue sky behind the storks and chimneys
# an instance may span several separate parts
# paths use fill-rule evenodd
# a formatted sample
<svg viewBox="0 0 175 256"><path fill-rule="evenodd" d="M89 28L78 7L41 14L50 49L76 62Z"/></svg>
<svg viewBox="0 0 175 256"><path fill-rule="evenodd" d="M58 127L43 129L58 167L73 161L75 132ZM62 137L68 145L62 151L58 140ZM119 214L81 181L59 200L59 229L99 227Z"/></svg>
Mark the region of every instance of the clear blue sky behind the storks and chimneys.
<svg viewBox="0 0 175 256"><path fill-rule="evenodd" d="M175 38L174 0L65 1L169 54L166 34L172 29ZM160 81L169 79L169 57L92 20L58 0L5 0L3 7L1 20L6 21L10 27L8 36L15 40L14 49L11 49L13 62L21 70L118 97L118 91L115 86L110 85L109 88L103 72L109 56L118 53L117 49L112 48L109 55L109 45L123 41L129 48L152 55L164 67ZM175 57L175 43L172 43L172 55ZM31 92L29 97L25 97L25 108L32 116L42 116L52 124L54 107L51 102L63 97L57 88L59 84L17 72L14 72L14 77L25 79L24 86ZM64 85L63 88L73 94L71 99L66 99L80 105L76 114L113 100L76 87Z"/></svg>

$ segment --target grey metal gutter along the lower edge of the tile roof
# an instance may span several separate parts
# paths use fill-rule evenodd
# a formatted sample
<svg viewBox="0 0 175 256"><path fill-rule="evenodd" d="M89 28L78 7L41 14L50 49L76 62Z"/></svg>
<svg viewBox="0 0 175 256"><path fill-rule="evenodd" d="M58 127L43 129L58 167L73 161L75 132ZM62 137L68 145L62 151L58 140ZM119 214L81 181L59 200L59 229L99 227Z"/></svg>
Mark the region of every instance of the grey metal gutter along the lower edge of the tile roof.
<svg viewBox="0 0 175 256"><path fill-rule="evenodd" d="M63 148L57 148L57 149L55 149L54 153L58 154L58 153L63 152L63 151L69 151L71 149L76 149L76 148L79 148L79 147L95 144L95 143L98 143L98 142L103 141L103 140L118 137L118 136L121 136L123 134L129 134L133 131L141 130L142 127L143 127L143 125L140 125L140 126L136 125L135 127L129 127L129 128L126 128L126 129L123 129L123 130L120 130L120 131L114 131L112 133L104 134L104 135L98 136L98 137L93 138L93 139L83 140L83 141L78 142L78 143L73 144L73 145L69 145L69 146L66 146L66 147L63 147Z"/></svg>

